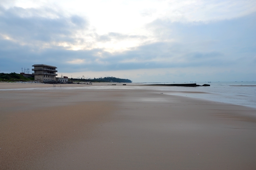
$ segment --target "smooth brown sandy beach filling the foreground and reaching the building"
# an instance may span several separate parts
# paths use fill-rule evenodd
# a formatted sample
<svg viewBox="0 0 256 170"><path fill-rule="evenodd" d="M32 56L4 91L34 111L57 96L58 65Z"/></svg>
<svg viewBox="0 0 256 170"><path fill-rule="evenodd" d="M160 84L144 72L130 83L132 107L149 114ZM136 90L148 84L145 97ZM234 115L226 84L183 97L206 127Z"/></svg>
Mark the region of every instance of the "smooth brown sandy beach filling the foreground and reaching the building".
<svg viewBox="0 0 256 170"><path fill-rule="evenodd" d="M172 91L51 87L0 83L24 88L0 90L1 170L256 167L254 108Z"/></svg>

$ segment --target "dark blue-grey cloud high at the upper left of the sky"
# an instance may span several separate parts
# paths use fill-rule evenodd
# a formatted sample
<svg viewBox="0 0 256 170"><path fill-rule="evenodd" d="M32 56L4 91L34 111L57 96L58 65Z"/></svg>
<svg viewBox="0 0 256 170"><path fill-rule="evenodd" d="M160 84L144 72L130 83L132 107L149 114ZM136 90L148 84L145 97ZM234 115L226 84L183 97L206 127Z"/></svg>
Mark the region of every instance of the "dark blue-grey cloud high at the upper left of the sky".
<svg viewBox="0 0 256 170"><path fill-rule="evenodd" d="M8 10L1 9L0 32L12 38L23 41L69 41L75 40L70 36L79 29L85 28L87 22L79 16L63 17L55 11L51 11L56 18L46 18L35 14L40 9L23 9L14 7ZM22 15L27 13L24 17ZM71 24L73 23L73 24Z"/></svg>

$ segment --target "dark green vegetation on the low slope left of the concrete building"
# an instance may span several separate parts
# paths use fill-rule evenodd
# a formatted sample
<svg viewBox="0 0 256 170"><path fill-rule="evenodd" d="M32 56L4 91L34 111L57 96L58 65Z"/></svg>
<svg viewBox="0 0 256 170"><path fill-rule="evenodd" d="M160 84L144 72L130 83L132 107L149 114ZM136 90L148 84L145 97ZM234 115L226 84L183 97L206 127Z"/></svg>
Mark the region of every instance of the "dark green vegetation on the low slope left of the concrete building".
<svg viewBox="0 0 256 170"><path fill-rule="evenodd" d="M13 73L0 73L0 81L31 81L34 78L26 78L21 74Z"/></svg>

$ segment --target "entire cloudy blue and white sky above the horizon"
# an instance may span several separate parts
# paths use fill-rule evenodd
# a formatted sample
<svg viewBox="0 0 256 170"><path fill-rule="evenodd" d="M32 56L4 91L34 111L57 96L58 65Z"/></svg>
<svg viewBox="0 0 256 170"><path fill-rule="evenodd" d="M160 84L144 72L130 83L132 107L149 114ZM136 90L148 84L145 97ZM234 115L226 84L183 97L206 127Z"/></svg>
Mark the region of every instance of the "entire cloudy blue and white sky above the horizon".
<svg viewBox="0 0 256 170"><path fill-rule="evenodd" d="M256 81L255 0L1 0L0 72Z"/></svg>

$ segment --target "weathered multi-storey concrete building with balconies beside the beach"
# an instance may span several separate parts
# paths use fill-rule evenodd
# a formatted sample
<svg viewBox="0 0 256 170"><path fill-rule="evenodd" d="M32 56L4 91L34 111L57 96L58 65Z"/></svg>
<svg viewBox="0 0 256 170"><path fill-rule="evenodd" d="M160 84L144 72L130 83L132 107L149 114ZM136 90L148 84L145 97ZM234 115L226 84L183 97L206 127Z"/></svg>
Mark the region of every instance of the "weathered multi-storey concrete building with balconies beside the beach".
<svg viewBox="0 0 256 170"><path fill-rule="evenodd" d="M57 67L45 64L34 64L32 65L34 73L32 75L35 77L35 81L41 83L55 83Z"/></svg>

